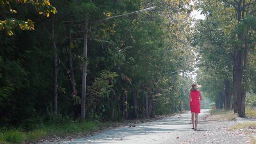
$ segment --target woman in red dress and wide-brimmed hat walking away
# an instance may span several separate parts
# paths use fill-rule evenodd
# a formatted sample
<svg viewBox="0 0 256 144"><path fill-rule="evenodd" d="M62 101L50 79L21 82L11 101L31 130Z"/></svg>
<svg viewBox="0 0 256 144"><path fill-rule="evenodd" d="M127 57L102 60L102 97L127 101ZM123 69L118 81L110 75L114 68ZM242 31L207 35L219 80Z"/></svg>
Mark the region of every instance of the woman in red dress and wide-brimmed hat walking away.
<svg viewBox="0 0 256 144"><path fill-rule="evenodd" d="M200 113L200 100L202 100L201 92L198 91L198 88L201 88L201 85L192 84L192 88L190 89L189 94L189 104L190 104L190 110L191 110L191 120L193 129L197 130L197 123L198 123L198 114Z"/></svg>

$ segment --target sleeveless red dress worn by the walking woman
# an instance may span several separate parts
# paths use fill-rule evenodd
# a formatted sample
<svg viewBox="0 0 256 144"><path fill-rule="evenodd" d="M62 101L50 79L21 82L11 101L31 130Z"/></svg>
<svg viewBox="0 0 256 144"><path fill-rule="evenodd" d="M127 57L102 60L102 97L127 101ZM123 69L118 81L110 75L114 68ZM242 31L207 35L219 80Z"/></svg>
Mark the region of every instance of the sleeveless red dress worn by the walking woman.
<svg viewBox="0 0 256 144"><path fill-rule="evenodd" d="M190 91L191 101L190 101L190 110L191 112L200 113L200 91L194 90Z"/></svg>

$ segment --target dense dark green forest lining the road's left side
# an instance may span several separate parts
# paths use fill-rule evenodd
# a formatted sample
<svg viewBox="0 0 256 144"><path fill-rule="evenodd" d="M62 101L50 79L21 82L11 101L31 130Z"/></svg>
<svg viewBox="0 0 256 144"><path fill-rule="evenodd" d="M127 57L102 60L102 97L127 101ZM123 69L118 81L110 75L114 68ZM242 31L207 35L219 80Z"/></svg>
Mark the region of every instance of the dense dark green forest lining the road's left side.
<svg viewBox="0 0 256 144"><path fill-rule="evenodd" d="M1 125L26 128L52 115L154 117L188 107L189 0L35 1L1 0Z"/></svg>

